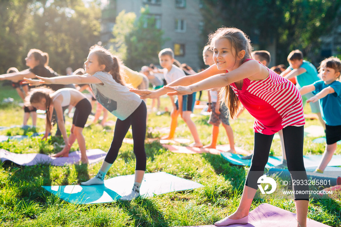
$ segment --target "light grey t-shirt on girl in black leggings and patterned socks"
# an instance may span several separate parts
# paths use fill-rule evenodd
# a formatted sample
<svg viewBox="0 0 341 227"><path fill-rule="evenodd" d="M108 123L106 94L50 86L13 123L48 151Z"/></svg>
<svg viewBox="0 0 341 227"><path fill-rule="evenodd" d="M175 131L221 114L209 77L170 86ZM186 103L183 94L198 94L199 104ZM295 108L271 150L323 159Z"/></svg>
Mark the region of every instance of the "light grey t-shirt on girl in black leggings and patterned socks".
<svg viewBox="0 0 341 227"><path fill-rule="evenodd" d="M117 83L111 74L97 72L93 76L103 83L91 84L96 100L118 119L125 120L141 104L142 99L128 87Z"/></svg>

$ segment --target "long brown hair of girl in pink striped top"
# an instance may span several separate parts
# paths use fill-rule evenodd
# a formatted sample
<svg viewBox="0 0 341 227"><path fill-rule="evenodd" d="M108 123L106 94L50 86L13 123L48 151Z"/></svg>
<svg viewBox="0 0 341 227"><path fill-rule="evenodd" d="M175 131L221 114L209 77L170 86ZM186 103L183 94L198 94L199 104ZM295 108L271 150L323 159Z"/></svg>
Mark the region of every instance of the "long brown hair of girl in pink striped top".
<svg viewBox="0 0 341 227"><path fill-rule="evenodd" d="M246 36L246 34L239 30L238 28L219 28L215 33L209 35L210 47L213 49L215 40L219 38L227 38L231 47L236 51L235 57L237 59L237 53L244 50L245 55L243 59L240 59L241 62L251 57L252 47L250 39ZM229 110L229 114L231 118L237 115L241 103L237 97L237 95L233 92L230 85L227 85L220 92L220 95L223 96L223 100L227 103L227 107Z"/></svg>

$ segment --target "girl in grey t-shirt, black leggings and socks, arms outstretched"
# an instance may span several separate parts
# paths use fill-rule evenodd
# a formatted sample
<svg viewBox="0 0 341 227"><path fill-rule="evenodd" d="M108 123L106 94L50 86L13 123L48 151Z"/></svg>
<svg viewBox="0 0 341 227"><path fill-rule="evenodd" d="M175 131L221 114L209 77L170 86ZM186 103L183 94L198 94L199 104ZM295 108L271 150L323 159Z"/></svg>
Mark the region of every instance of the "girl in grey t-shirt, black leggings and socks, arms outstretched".
<svg viewBox="0 0 341 227"><path fill-rule="evenodd" d="M47 84L91 84L97 101L117 117L113 142L100 170L94 178L82 182L82 185L104 184L104 177L117 158L123 139L132 126L133 150L136 156L135 182L131 193L120 198L121 200L132 200L140 195L140 186L146 170L147 158L144 147L146 104L125 86L120 75L119 60L108 50L98 45L91 47L84 64L87 74L83 76L38 77L40 79L38 82L36 82L37 80L28 81Z"/></svg>

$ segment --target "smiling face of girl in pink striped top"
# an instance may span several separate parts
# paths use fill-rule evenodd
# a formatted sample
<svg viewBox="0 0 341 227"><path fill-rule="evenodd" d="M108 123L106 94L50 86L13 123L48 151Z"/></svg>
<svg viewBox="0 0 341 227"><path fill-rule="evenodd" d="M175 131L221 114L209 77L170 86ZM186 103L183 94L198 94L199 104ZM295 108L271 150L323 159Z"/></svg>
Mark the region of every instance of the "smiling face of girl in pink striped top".
<svg viewBox="0 0 341 227"><path fill-rule="evenodd" d="M241 52L239 52L238 56ZM244 55L242 57L244 57ZM238 68L241 61L241 59L237 57L235 48L227 38L218 38L214 41L213 60L219 70L227 71Z"/></svg>

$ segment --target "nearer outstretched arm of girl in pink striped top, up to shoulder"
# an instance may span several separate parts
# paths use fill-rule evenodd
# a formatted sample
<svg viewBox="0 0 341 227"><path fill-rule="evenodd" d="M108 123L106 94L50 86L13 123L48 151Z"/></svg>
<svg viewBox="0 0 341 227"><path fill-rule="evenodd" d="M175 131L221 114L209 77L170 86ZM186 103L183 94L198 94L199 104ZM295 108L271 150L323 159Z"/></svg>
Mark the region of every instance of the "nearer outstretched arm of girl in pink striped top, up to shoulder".
<svg viewBox="0 0 341 227"><path fill-rule="evenodd" d="M262 80L267 76L269 76L269 73L265 66L255 60L249 60L231 72L208 77L190 86L171 86L170 84L165 87L174 91L167 93L167 95L189 95L193 92L225 87L245 78Z"/></svg>

